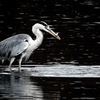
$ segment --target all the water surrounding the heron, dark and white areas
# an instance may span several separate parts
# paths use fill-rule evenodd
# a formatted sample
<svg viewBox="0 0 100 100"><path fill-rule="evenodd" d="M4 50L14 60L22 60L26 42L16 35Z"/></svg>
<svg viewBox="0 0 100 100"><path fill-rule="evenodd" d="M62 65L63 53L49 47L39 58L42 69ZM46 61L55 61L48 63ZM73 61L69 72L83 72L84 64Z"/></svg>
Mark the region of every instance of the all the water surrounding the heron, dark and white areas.
<svg viewBox="0 0 100 100"><path fill-rule="evenodd" d="M0 40L19 33L34 38L32 25L45 21L61 41L45 33L21 73L1 65L0 99L99 100L99 12L98 0L1 0Z"/></svg>

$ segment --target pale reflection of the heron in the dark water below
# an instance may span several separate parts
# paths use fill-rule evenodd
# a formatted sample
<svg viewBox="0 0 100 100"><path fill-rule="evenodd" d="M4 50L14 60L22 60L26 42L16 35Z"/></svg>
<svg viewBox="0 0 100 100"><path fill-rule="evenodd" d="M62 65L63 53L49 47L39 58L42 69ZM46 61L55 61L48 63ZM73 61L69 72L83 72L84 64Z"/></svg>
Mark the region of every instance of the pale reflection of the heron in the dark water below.
<svg viewBox="0 0 100 100"><path fill-rule="evenodd" d="M40 86L29 77L2 75L0 77L0 97L9 100L43 100Z"/></svg>

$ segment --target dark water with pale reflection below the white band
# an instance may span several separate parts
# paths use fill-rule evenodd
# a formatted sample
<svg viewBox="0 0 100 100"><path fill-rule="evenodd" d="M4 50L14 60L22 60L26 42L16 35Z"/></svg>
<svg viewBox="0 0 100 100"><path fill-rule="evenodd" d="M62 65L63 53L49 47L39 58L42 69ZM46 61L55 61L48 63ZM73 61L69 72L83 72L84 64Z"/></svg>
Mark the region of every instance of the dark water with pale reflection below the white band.
<svg viewBox="0 0 100 100"><path fill-rule="evenodd" d="M100 79L0 74L0 100L99 100Z"/></svg>

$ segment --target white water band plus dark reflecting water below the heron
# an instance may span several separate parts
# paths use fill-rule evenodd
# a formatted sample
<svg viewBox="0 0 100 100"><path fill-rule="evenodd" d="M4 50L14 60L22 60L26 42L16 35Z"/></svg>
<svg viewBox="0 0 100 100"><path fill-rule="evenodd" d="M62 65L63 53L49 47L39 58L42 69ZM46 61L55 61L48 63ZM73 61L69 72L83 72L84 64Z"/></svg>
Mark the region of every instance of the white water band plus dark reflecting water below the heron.
<svg viewBox="0 0 100 100"><path fill-rule="evenodd" d="M4 68L4 66L3 66ZM0 72L0 100L99 100L100 66L17 65Z"/></svg>

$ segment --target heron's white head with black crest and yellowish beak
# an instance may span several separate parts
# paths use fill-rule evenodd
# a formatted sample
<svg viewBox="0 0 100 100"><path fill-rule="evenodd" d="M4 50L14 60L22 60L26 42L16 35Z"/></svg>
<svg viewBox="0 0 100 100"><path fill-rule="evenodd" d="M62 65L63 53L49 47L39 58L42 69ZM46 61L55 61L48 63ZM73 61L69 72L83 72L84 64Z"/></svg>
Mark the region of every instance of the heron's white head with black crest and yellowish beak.
<svg viewBox="0 0 100 100"><path fill-rule="evenodd" d="M55 32L49 27L49 25L48 25L47 23L45 23L44 21L41 21L40 23L36 23L36 24L35 24L35 28L50 33L51 35L53 35L53 36L54 36L55 38L57 38L58 40L61 39L61 38L58 36L58 33L55 33Z"/></svg>

